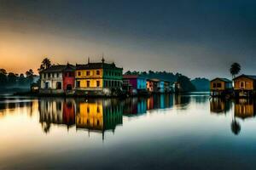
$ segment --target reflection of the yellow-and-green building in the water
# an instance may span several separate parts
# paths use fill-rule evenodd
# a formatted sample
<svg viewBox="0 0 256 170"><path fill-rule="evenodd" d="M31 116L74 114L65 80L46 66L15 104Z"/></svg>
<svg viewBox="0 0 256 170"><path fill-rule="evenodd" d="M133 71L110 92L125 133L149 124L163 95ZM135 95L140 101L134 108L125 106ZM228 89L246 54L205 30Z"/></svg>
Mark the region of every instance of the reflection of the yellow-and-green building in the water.
<svg viewBox="0 0 256 170"><path fill-rule="evenodd" d="M113 100L79 101L77 103L76 127L104 133L123 123L122 106Z"/></svg>

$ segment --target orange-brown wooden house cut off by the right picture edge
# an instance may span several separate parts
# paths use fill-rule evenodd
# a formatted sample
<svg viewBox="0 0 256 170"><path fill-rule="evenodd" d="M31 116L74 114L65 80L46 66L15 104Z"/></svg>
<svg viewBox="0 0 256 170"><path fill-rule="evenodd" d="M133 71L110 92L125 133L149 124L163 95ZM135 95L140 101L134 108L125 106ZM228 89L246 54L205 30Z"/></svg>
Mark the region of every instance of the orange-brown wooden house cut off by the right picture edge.
<svg viewBox="0 0 256 170"><path fill-rule="evenodd" d="M237 97L250 97L256 94L256 76L241 75L233 79Z"/></svg>

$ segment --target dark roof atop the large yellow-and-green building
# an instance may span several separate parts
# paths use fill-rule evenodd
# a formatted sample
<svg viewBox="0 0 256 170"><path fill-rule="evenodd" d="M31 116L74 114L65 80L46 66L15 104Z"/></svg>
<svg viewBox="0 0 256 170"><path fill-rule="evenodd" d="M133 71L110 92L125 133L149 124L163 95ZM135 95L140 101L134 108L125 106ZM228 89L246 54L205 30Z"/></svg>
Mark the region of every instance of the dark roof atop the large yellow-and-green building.
<svg viewBox="0 0 256 170"><path fill-rule="evenodd" d="M116 67L114 63L88 63L87 65L76 65L77 70L90 70L90 69L122 69Z"/></svg>

